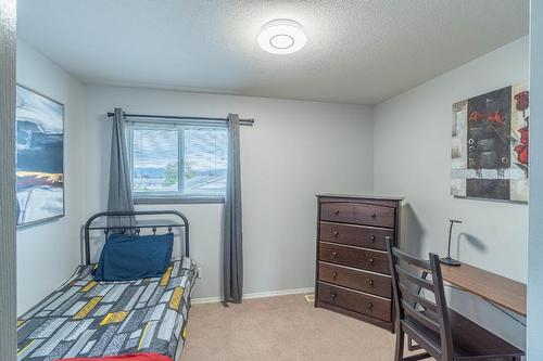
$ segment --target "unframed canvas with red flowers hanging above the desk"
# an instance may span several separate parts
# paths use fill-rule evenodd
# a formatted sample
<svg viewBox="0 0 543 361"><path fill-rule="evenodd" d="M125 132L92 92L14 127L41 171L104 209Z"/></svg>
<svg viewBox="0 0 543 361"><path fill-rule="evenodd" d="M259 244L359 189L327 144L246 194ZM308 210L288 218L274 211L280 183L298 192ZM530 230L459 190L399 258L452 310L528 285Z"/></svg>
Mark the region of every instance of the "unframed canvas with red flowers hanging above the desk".
<svg viewBox="0 0 543 361"><path fill-rule="evenodd" d="M527 83L453 104L451 193L528 202L529 120Z"/></svg>

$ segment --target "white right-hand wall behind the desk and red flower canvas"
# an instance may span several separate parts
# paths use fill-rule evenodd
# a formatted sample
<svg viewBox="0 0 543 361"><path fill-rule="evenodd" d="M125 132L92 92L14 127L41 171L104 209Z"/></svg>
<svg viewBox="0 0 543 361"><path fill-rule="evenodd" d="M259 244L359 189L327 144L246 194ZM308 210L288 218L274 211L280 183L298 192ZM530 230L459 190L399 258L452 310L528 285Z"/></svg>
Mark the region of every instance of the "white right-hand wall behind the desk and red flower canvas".
<svg viewBox="0 0 543 361"><path fill-rule="evenodd" d="M522 38L376 106L375 193L406 197L403 248L419 256L444 254L449 219L460 219L453 257L527 281L528 206L454 198L450 191L452 104L527 80L528 38ZM518 322L476 297L453 293L451 298L453 308L523 347Z"/></svg>

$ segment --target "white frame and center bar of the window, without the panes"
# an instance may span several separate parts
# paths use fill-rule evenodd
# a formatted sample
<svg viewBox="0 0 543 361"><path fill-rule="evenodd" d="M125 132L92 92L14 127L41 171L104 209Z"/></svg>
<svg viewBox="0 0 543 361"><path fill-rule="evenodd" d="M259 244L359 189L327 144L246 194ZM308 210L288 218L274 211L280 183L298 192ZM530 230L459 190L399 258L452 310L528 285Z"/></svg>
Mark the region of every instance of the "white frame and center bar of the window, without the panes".
<svg viewBox="0 0 543 361"><path fill-rule="evenodd" d="M181 192L136 192L134 191L134 130L135 129L176 129L177 130L177 178L178 190L185 185L185 128L186 127L228 128L228 124L218 120L172 120L165 118L127 119L125 124L130 171L130 189L135 204L210 204L225 203L225 195L184 195ZM228 157L228 154L227 154ZM228 162L228 159L227 159ZM225 189L226 193L226 189Z"/></svg>

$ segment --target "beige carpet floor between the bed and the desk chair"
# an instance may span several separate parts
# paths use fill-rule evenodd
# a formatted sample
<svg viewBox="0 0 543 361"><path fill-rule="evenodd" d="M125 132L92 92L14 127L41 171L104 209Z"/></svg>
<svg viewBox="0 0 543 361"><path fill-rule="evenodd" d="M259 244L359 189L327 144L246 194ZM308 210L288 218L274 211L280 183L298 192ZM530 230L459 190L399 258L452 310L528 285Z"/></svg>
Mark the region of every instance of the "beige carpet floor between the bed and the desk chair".
<svg viewBox="0 0 543 361"><path fill-rule="evenodd" d="M392 361L394 335L303 295L194 305L182 361Z"/></svg>

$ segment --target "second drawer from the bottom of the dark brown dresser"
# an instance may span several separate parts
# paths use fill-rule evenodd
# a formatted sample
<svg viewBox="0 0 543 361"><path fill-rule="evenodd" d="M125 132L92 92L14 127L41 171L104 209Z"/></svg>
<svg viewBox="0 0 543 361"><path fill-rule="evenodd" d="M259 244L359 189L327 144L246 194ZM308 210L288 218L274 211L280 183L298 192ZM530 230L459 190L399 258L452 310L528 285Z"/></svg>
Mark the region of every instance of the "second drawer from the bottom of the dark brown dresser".
<svg viewBox="0 0 543 361"><path fill-rule="evenodd" d="M377 273L318 262L318 279L386 298L392 297L392 281Z"/></svg>

